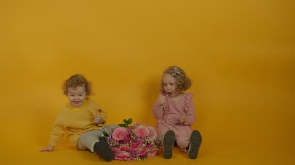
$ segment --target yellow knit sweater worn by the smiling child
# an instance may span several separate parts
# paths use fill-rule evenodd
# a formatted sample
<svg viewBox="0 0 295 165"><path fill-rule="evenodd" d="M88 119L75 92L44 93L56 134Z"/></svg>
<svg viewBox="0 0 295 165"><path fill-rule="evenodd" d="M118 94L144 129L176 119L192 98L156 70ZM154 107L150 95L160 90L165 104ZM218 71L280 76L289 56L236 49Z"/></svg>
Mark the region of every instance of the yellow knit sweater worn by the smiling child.
<svg viewBox="0 0 295 165"><path fill-rule="evenodd" d="M94 117L99 114L103 118L102 124L94 123ZM107 115L96 102L86 99L81 107L73 107L69 103L61 109L55 119L50 134L50 146L58 146L58 143L68 131L69 141L77 147L78 138L87 131L98 130L104 125Z"/></svg>

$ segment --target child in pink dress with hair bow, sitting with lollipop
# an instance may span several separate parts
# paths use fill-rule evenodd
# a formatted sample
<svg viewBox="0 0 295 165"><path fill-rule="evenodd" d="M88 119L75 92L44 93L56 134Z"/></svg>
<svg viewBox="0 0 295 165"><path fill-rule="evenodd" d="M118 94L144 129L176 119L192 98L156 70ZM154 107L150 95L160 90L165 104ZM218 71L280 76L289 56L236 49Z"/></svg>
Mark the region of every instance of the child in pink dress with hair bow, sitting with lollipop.
<svg viewBox="0 0 295 165"><path fill-rule="evenodd" d="M191 129L195 122L193 94L184 92L190 87L191 80L180 67L171 66L164 71L153 116L158 120L157 131L164 135L163 156L166 159L172 157L175 142L189 158L197 158L202 137L199 131Z"/></svg>

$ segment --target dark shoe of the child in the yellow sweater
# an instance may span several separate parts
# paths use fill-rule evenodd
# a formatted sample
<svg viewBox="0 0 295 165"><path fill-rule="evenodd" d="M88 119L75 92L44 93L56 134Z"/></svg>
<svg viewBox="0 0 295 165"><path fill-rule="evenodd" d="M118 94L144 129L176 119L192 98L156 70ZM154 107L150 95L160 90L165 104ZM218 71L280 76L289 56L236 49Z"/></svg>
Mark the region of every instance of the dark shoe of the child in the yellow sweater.
<svg viewBox="0 0 295 165"><path fill-rule="evenodd" d="M107 162L110 162L114 158L114 155L110 150L110 146L105 140L100 140L99 142L94 143L93 151L104 158Z"/></svg>

